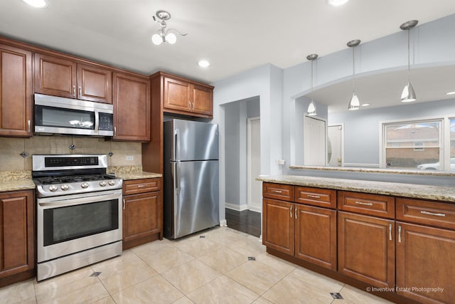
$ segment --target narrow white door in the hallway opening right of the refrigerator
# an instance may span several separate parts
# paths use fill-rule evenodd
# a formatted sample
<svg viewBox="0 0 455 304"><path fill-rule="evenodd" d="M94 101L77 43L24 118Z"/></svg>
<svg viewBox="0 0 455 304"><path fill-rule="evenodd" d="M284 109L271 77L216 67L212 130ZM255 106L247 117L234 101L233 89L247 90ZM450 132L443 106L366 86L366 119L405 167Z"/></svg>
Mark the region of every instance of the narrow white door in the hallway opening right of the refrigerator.
<svg viewBox="0 0 455 304"><path fill-rule="evenodd" d="M262 211L262 182L256 180L261 174L261 120L247 119L247 205L251 211Z"/></svg>

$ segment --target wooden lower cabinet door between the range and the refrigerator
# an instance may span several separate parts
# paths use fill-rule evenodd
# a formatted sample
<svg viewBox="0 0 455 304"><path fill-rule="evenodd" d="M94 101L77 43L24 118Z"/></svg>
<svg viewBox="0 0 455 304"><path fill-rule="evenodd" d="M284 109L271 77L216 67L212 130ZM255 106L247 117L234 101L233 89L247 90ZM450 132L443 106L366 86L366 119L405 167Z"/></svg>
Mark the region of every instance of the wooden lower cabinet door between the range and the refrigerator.
<svg viewBox="0 0 455 304"><path fill-rule="evenodd" d="M124 196L123 241L141 239L160 232L161 192Z"/></svg>

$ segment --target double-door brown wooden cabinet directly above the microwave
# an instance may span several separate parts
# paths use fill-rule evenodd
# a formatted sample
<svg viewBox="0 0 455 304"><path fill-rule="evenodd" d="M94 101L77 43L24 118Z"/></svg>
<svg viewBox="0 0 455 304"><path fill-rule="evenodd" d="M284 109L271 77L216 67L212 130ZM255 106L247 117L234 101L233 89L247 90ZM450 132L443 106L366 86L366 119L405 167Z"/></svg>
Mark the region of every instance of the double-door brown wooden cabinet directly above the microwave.
<svg viewBox="0 0 455 304"><path fill-rule="evenodd" d="M35 92L112 103L112 70L35 53Z"/></svg>

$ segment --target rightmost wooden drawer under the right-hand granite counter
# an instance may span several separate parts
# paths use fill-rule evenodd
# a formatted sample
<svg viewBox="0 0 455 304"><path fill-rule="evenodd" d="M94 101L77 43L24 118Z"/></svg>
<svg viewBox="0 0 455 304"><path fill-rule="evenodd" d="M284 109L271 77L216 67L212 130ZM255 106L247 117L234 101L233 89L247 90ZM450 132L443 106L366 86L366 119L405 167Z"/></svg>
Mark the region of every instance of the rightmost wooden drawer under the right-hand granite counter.
<svg viewBox="0 0 455 304"><path fill-rule="evenodd" d="M397 220L455 229L455 204L397 198Z"/></svg>

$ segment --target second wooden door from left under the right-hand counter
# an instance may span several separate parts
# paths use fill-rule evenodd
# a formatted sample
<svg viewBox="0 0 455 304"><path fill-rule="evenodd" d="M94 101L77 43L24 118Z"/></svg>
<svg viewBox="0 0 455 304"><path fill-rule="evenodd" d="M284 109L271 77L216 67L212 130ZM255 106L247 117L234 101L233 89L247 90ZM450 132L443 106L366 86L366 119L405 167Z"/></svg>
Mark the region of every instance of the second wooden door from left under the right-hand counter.
<svg viewBox="0 0 455 304"><path fill-rule="evenodd" d="M295 204L296 258L336 271L336 210Z"/></svg>

